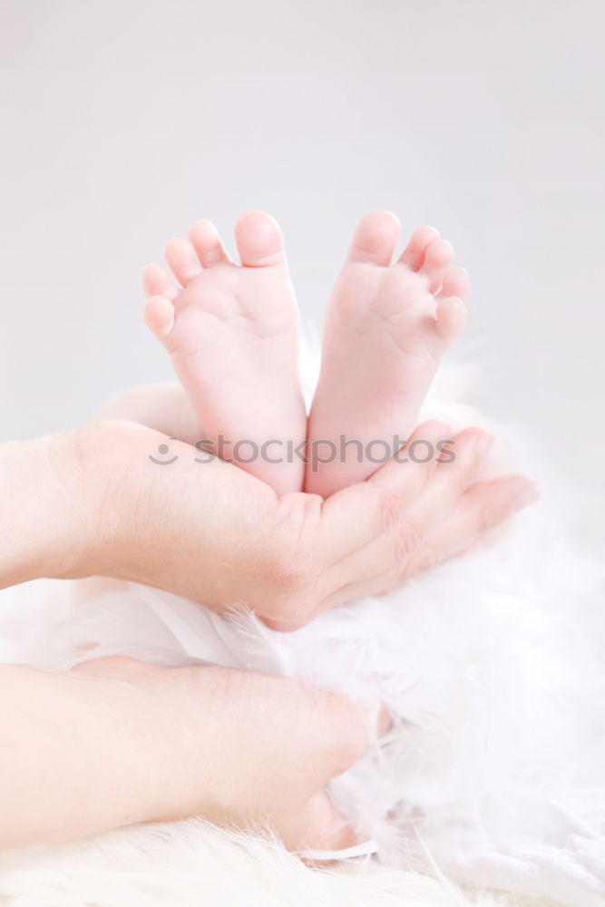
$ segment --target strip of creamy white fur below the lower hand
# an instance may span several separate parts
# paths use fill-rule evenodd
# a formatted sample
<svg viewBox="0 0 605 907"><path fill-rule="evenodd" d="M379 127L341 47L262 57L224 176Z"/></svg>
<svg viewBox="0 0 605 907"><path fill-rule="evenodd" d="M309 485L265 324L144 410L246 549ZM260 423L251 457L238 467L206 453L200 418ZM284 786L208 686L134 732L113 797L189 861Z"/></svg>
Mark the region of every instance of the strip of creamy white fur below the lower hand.
<svg viewBox="0 0 605 907"><path fill-rule="evenodd" d="M352 862L312 870L278 842L191 820L0 855L6 907L552 907L464 893L428 875Z"/></svg>

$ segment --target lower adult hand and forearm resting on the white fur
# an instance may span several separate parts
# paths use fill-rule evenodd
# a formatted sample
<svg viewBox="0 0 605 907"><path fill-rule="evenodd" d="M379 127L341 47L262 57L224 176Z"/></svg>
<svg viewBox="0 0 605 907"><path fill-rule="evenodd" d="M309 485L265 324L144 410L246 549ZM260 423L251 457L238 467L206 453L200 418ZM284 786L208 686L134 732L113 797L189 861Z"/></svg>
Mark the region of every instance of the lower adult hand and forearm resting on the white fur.
<svg viewBox="0 0 605 907"><path fill-rule="evenodd" d="M1 666L0 688L4 847L200 815L269 826L292 849L346 848L355 835L323 787L388 725L292 678L132 658Z"/></svg>

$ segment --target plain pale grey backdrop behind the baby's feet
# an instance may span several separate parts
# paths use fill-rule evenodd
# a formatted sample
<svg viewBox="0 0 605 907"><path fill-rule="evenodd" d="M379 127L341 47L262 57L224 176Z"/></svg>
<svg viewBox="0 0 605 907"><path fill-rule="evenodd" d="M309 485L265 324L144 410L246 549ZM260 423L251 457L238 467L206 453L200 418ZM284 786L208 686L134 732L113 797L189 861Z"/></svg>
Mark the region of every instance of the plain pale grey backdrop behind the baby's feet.
<svg viewBox="0 0 605 907"><path fill-rule="evenodd" d="M140 270L192 220L232 248L242 211L272 212L319 323L356 219L388 208L454 243L481 402L538 435L599 534L600 0L0 8L4 438L171 376Z"/></svg>

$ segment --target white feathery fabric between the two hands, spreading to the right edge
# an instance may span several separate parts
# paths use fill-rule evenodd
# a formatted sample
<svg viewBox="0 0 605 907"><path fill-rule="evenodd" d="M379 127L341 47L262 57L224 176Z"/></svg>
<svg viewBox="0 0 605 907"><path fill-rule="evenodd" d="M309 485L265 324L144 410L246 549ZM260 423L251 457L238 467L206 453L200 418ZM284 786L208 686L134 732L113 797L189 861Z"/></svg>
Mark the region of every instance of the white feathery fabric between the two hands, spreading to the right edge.
<svg viewBox="0 0 605 907"><path fill-rule="evenodd" d="M288 635L130 586L81 606L53 647L46 635L44 652L26 657L195 658L383 699L400 724L332 793L385 865L596 907L605 902L602 587L590 565L545 551L544 532L528 512L492 551Z"/></svg>

